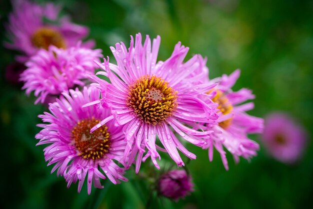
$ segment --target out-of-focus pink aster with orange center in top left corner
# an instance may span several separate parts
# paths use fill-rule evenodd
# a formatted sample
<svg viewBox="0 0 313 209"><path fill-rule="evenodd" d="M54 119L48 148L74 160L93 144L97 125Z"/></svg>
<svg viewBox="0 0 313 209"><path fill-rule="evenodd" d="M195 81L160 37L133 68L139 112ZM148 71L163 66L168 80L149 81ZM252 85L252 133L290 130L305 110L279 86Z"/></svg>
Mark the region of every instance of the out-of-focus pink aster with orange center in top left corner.
<svg viewBox="0 0 313 209"><path fill-rule="evenodd" d="M68 17L59 18L61 8L52 3L11 2L13 12L6 26L10 43L5 46L24 54L16 57L19 62L27 61L38 49L47 50L50 45L63 49L75 46L89 33L87 27L71 23ZM93 45L93 41L89 41L84 47Z"/></svg>

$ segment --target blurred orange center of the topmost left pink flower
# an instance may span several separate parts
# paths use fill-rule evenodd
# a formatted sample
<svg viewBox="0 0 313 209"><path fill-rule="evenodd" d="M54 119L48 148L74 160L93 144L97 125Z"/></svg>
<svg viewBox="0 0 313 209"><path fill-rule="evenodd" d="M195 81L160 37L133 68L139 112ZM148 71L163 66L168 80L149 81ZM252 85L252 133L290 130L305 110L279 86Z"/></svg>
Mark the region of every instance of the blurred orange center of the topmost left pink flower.
<svg viewBox="0 0 313 209"><path fill-rule="evenodd" d="M65 48L64 38L57 31L50 28L40 28L31 37L32 44L37 48L48 50L50 45Z"/></svg>

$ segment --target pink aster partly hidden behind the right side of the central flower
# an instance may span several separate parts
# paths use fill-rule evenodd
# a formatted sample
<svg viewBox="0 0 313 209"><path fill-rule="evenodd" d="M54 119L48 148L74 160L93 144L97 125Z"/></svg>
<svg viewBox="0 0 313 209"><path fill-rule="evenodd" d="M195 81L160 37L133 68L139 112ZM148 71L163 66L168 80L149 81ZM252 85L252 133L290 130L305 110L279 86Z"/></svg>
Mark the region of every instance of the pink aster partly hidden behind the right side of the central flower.
<svg viewBox="0 0 313 209"><path fill-rule="evenodd" d="M235 84L240 71L234 71L230 76L223 75L221 78L213 79L219 81L214 91L208 92L211 100L218 104L219 118L217 125L207 125L214 132L207 139L204 148L208 149L209 160L213 159L213 147L220 153L223 165L228 170L225 147L234 157L236 162L239 156L250 159L256 155L259 145L249 139L247 134L261 133L263 119L248 115L246 111L253 109L252 102L244 103L246 100L254 99L251 91L245 88L233 92L231 87ZM205 125L204 125L205 126ZM202 129L207 129L202 126Z"/></svg>

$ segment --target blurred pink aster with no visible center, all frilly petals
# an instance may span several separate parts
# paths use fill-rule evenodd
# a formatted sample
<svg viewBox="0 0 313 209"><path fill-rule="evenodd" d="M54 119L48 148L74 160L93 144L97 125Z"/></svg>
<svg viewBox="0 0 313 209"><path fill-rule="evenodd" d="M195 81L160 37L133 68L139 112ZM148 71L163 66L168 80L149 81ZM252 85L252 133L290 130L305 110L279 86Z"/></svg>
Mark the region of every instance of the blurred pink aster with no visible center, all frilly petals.
<svg viewBox="0 0 313 209"><path fill-rule="evenodd" d="M22 89L28 95L34 91L35 104L44 103L47 95L59 95L75 85L83 86L81 80L87 78L86 73L94 73L97 66L93 61L99 57L101 50L82 48L79 43L68 49L55 46L50 46L48 51L41 49L26 63L27 69L20 78L25 82Z"/></svg>

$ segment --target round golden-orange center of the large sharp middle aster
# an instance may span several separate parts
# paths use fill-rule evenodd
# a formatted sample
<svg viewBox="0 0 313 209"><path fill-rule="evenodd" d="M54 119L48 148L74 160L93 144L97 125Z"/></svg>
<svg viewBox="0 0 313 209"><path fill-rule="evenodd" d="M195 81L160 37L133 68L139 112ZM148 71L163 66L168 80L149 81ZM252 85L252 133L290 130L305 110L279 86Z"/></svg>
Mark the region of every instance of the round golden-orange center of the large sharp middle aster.
<svg viewBox="0 0 313 209"><path fill-rule="evenodd" d="M177 107L177 92L156 76L142 76L129 86L126 104L141 121L160 124Z"/></svg>

